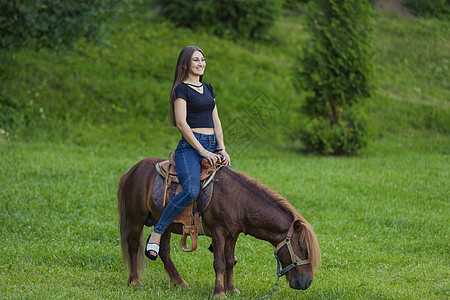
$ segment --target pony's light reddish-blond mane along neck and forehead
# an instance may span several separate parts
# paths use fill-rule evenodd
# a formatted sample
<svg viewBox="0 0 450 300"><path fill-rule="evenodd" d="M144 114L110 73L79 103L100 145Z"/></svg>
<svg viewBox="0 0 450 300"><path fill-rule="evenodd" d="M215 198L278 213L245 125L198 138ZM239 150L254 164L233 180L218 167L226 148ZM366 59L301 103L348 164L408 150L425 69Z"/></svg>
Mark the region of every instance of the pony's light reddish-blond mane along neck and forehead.
<svg viewBox="0 0 450 300"><path fill-rule="evenodd" d="M230 176L245 184L245 186L255 194L272 200L282 210L290 213L294 218L293 220L300 221L300 224L303 227L300 239L306 244L308 248L308 258L311 262L311 265L317 269L320 265L320 248L319 243L317 242L316 234L314 233L311 224L309 224L309 222L295 209L295 207L290 204L289 201L286 200L286 198L278 194L276 191L272 190L267 185L261 183L258 179L251 178L245 173L234 171L229 168L223 168L223 170L226 170Z"/></svg>

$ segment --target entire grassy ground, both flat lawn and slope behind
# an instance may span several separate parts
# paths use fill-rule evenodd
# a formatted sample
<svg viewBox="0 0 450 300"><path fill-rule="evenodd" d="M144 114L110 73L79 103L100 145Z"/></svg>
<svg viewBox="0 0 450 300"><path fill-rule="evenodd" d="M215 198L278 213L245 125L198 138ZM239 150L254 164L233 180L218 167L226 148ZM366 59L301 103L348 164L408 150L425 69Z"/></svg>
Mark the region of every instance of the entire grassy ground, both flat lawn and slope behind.
<svg viewBox="0 0 450 300"><path fill-rule="evenodd" d="M150 12L116 25L110 45L3 55L1 91L21 111L9 136L0 131L0 298L211 298L206 237L194 253L172 240L190 288L171 288L160 260L147 265L143 288L128 287L116 205L125 170L175 147L165 119L173 63L199 44L223 124L245 125L261 91L277 101L281 113L250 145L231 145L233 167L285 196L322 250L308 290L283 279L271 299L449 299L449 23L375 15L376 89L363 103L370 142L358 157L320 157L291 140L304 99L292 71L307 39L301 18L278 21L268 43L174 28ZM228 297L264 296L276 280L273 247L242 235L237 256L242 294Z"/></svg>

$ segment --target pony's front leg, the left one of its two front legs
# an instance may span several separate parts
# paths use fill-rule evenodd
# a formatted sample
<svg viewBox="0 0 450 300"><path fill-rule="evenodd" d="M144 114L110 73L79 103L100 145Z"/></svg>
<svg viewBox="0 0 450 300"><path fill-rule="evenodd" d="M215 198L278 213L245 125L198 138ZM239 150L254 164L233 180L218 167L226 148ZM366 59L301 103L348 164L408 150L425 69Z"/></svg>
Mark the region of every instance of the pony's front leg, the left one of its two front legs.
<svg viewBox="0 0 450 300"><path fill-rule="evenodd" d="M214 271L216 272L216 282L214 284L213 297L226 298L225 295L225 239L221 234L213 234L214 251Z"/></svg>

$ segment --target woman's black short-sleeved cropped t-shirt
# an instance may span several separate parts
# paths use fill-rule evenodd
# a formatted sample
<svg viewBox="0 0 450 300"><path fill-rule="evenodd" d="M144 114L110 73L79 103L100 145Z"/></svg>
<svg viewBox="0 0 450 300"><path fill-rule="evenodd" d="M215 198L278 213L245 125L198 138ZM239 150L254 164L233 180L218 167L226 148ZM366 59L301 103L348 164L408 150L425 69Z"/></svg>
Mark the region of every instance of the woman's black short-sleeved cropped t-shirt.
<svg viewBox="0 0 450 300"><path fill-rule="evenodd" d="M214 128L212 112L216 107L216 94L209 83L203 82L200 94L184 82L175 87L175 99L182 98L187 103L186 122L191 128Z"/></svg>

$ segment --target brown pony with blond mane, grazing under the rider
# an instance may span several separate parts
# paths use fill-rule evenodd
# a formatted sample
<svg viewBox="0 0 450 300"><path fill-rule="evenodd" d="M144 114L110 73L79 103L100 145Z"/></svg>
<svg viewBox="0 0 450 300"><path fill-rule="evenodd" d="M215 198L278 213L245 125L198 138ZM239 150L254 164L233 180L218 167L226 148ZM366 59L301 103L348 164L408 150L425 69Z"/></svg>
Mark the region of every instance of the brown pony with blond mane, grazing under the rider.
<svg viewBox="0 0 450 300"><path fill-rule="evenodd" d="M120 178L117 194L122 257L130 267L131 285L142 286L138 272L145 267L143 227L155 225L161 217L152 199L153 183L159 176L155 164L160 161L154 157L143 159ZM320 262L319 245L311 225L285 198L258 180L228 167L220 169L202 221L205 234L214 245L215 297L225 298L226 291L239 294L234 286L233 266L234 248L242 232L273 246L290 241L289 247L280 244L276 254L281 266L290 265L293 257L303 263L290 269L286 279L294 289L307 289L311 285L313 267L317 269ZM159 256L170 283L188 286L170 258L171 232L181 234L181 225L172 223L163 234Z"/></svg>

